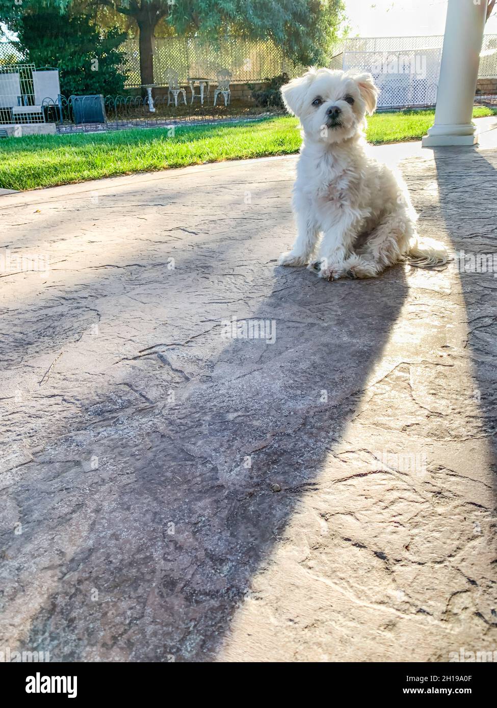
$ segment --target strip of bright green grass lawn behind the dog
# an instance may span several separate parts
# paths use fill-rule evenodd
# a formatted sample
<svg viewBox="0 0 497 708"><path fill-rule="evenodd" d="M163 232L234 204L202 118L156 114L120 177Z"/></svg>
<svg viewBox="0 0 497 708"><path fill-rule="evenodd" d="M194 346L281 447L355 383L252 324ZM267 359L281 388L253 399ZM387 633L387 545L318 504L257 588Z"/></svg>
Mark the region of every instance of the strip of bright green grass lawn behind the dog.
<svg viewBox="0 0 497 708"><path fill-rule="evenodd" d="M475 108L474 118L496 115ZM374 144L420 139L434 111L376 113L367 139ZM284 155L301 144L296 118L257 122L8 138L0 141L0 188L26 190L169 167Z"/></svg>

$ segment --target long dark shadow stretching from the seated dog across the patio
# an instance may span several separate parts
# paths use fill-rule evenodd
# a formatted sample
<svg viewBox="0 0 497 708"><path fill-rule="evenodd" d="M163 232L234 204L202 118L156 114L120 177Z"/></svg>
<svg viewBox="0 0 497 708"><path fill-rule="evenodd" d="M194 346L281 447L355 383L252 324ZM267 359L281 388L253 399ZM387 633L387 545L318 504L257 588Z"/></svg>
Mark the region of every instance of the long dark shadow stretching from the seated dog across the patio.
<svg viewBox="0 0 497 708"><path fill-rule="evenodd" d="M273 344L225 346L214 324L217 354L201 377L174 360L174 403L138 399L120 411L116 389L99 390L77 430L23 467L9 492L24 532L4 535L4 580L17 576L4 600L16 605L26 569L37 588L23 645L52 661L216 656L252 574L317 484L406 297L402 268L333 285L305 270L275 275L256 312L223 308L272 320ZM167 351L136 362L134 389L147 369L162 374Z"/></svg>

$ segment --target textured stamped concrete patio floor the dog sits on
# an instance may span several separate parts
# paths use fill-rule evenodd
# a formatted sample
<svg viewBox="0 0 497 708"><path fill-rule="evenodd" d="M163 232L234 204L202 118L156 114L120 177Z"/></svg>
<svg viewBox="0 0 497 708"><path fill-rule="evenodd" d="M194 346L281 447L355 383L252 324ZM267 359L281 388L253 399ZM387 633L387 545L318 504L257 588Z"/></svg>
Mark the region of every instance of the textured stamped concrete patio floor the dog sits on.
<svg viewBox="0 0 497 708"><path fill-rule="evenodd" d="M373 149L405 158L423 236L493 253L496 134ZM295 161L1 199L2 248L50 270L0 277L0 646L52 661L497 649L497 280L279 268ZM272 321L274 343L223 338L233 316Z"/></svg>

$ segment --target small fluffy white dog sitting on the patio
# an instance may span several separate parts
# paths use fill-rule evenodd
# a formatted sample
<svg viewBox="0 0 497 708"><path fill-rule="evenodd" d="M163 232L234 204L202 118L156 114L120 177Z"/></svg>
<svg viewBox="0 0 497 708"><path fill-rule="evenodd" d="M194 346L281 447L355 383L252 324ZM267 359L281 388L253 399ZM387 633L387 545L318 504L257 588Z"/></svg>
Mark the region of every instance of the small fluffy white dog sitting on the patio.
<svg viewBox="0 0 497 708"><path fill-rule="evenodd" d="M281 265L308 263L321 278L336 280L371 278L398 261L447 262L440 244L418 246L417 215L400 176L364 152L365 116L374 113L378 94L371 74L314 68L281 88L303 127L297 238Z"/></svg>

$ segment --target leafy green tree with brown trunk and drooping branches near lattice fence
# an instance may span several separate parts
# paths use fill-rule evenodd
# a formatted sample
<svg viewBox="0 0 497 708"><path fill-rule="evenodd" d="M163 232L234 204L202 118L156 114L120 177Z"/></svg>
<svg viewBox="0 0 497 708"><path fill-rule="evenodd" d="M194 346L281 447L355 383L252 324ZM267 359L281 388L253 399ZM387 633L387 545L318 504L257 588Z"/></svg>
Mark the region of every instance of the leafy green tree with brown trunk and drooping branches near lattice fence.
<svg viewBox="0 0 497 708"><path fill-rule="evenodd" d="M216 42L235 33L255 39L271 38L286 54L302 64L323 61L342 20L343 0L83 0L85 11L109 11L138 26L140 80L152 84L153 45L157 24L163 20L180 35L197 35ZM82 6L82 0L77 0ZM0 21L16 30L19 8L0 0ZM30 0L29 7L51 7L61 12L74 0Z"/></svg>

